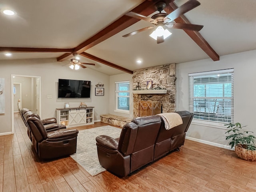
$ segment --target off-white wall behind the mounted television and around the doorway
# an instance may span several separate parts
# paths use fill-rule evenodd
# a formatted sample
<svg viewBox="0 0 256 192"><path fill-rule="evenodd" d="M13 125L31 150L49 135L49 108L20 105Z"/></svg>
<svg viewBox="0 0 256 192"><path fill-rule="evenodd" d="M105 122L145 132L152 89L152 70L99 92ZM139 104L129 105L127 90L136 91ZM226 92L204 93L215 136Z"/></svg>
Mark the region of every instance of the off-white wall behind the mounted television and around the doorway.
<svg viewBox="0 0 256 192"><path fill-rule="evenodd" d="M1 60L0 78L5 78L5 114L0 115L0 134L11 132L11 74L41 76L42 81L42 115L41 118L56 117L56 108L63 108L65 102L70 107L78 107L80 102L86 102L88 106L94 106L94 120L100 120L100 114L109 112L109 76L90 68L73 71L66 63L56 62L51 59L29 60ZM57 82L59 78L90 80L90 99L58 99ZM98 82L104 84L104 96L95 96L95 85ZM22 89L23 92L23 89ZM30 94L31 95L31 94ZM47 95L52 95L51 99Z"/></svg>

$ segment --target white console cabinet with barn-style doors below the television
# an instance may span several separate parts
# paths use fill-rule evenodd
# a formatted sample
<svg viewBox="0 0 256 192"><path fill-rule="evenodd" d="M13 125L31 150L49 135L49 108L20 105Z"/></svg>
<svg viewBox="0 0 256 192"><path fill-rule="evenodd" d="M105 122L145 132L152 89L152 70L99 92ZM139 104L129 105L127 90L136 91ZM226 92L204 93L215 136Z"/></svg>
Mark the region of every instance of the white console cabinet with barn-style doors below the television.
<svg viewBox="0 0 256 192"><path fill-rule="evenodd" d="M57 108L58 124L76 127L94 124L94 107Z"/></svg>

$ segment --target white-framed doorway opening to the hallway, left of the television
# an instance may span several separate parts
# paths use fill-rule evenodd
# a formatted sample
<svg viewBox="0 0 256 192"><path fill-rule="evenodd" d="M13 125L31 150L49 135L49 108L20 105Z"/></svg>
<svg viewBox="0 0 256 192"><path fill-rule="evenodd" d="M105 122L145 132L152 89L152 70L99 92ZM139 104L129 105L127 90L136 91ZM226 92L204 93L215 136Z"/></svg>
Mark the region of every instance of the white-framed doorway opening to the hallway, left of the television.
<svg viewBox="0 0 256 192"><path fill-rule="evenodd" d="M28 108L41 116L41 77L12 74L11 84L13 133L14 112L19 112L22 108Z"/></svg>

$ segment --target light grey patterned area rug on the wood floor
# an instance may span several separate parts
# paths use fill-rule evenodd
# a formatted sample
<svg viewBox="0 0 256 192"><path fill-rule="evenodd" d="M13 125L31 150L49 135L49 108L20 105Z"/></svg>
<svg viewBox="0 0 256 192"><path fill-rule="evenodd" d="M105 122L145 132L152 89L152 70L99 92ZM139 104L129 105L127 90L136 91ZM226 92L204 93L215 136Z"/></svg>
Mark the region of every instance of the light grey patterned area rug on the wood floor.
<svg viewBox="0 0 256 192"><path fill-rule="evenodd" d="M95 138L99 135L108 135L113 138L118 138L121 130L120 128L107 125L79 131L76 153L70 156L90 173L91 176L104 172L106 169L100 166L98 160Z"/></svg>

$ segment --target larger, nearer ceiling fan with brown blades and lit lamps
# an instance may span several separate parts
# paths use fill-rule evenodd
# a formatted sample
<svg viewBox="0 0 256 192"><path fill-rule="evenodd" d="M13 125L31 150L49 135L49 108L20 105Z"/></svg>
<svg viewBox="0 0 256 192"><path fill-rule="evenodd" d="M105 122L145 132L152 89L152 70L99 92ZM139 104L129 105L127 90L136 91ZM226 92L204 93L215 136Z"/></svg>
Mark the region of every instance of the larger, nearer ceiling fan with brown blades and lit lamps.
<svg viewBox="0 0 256 192"><path fill-rule="evenodd" d="M131 16L140 20L145 20L150 22L151 24L154 24L154 26L148 26L145 28L142 28L140 30L136 30L134 32L128 33L126 35L123 35L123 37L128 37L131 35L135 35L138 32L142 32L148 29L152 29L156 27L156 30L150 34L152 38L154 38L157 43L164 42L164 39L170 36L170 33L166 28L174 28L174 29L184 29L184 30L193 30L193 31L200 31L203 26L202 25L194 25L194 24L186 24L186 23L176 23L174 20L181 16L182 14L192 10L193 8L196 8L200 5L200 2L197 0L189 0L188 2L184 3L182 6L178 7L176 10L171 12L170 14L162 13L162 10L166 7L165 2L158 2L155 4L155 8L159 13L154 14L151 18L146 17L144 15L135 13L135 12L128 12L126 13L127 16Z"/></svg>

